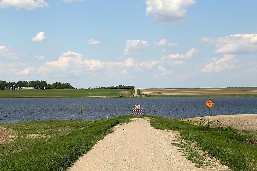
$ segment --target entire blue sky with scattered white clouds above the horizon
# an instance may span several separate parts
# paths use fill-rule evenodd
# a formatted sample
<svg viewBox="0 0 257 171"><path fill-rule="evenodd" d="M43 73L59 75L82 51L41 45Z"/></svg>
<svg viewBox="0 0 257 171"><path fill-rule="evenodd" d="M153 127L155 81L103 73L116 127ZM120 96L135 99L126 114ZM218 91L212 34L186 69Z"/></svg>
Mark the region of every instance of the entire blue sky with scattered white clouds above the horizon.
<svg viewBox="0 0 257 171"><path fill-rule="evenodd" d="M257 84L257 2L0 0L0 80Z"/></svg>

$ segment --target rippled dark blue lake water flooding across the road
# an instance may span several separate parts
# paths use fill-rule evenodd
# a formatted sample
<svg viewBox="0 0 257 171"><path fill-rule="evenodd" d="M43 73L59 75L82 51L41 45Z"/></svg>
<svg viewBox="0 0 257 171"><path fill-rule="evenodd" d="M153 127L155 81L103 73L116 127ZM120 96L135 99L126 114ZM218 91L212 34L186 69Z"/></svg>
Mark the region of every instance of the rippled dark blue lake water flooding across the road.
<svg viewBox="0 0 257 171"><path fill-rule="evenodd" d="M215 105L210 115L256 114L257 97L213 97ZM207 97L165 98L0 98L0 123L81 119L78 107L82 105L83 120L113 118L131 114L135 104L141 104L144 114L166 118L207 116Z"/></svg>

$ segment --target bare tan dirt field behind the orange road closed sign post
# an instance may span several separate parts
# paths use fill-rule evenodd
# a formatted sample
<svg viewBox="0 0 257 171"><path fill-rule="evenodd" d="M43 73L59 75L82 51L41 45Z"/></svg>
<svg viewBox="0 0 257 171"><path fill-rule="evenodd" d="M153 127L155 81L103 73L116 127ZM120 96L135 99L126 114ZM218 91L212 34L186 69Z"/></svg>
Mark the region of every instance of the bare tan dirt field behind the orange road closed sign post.
<svg viewBox="0 0 257 171"><path fill-rule="evenodd" d="M183 121L196 121L196 125L208 124L208 116L183 119ZM257 131L257 114L244 115L217 115L210 116L210 127L232 127L240 130Z"/></svg>

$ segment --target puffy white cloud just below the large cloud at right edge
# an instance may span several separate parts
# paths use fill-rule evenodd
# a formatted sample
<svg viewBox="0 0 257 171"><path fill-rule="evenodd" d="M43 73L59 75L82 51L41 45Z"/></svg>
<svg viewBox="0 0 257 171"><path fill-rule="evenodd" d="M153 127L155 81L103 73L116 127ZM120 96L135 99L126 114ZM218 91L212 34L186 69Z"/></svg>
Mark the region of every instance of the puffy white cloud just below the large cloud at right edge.
<svg viewBox="0 0 257 171"><path fill-rule="evenodd" d="M221 72L224 69L232 69L236 66L234 65L237 60L234 59L235 55L225 54L221 59L212 58L213 62L206 65L201 71L205 73L210 72Z"/></svg>

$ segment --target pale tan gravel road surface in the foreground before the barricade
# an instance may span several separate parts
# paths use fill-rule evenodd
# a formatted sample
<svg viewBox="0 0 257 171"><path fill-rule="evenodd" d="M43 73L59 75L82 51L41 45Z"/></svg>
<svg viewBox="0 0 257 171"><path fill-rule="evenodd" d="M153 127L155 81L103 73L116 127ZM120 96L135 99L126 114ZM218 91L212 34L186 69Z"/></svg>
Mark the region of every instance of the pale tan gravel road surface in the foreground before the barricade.
<svg viewBox="0 0 257 171"><path fill-rule="evenodd" d="M150 127L147 119L117 126L71 170L229 170L227 166L198 168L171 144L175 131Z"/></svg>

